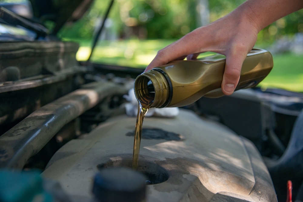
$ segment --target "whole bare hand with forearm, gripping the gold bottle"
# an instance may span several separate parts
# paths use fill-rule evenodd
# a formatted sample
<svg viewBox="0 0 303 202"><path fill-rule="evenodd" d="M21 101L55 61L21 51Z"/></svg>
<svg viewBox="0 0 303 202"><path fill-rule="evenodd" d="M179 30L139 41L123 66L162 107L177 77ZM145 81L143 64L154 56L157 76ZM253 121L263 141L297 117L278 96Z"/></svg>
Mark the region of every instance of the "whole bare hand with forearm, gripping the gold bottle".
<svg viewBox="0 0 303 202"><path fill-rule="evenodd" d="M196 58L212 51L226 56L222 92L230 95L238 84L243 61L254 47L258 32L303 8L302 0L247 0L225 17L188 33L158 51L145 71L173 60Z"/></svg>

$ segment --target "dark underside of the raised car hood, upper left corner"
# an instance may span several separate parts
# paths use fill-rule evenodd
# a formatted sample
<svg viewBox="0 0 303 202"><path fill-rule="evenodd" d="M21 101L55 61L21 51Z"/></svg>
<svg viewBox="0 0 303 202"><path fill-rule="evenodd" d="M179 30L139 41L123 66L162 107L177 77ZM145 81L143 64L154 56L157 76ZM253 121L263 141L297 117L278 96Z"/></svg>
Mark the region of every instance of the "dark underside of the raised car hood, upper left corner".
<svg viewBox="0 0 303 202"><path fill-rule="evenodd" d="M80 19L94 0L29 0L31 3L1 3L1 20L8 25L20 25L37 33L37 26L54 22L49 34L56 35L66 22ZM21 16L21 17L20 17ZM31 27L31 28L30 28ZM48 32L48 31L43 31Z"/></svg>

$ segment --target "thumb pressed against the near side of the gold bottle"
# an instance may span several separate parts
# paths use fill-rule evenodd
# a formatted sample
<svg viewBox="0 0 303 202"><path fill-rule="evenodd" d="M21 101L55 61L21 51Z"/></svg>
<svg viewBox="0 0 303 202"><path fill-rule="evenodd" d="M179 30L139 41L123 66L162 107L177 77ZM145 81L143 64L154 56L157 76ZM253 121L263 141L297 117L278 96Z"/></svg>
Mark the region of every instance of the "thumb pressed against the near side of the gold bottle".
<svg viewBox="0 0 303 202"><path fill-rule="evenodd" d="M244 54L243 54L244 53ZM221 83L222 92L231 95L238 85L241 68L247 53L226 56L225 69Z"/></svg>

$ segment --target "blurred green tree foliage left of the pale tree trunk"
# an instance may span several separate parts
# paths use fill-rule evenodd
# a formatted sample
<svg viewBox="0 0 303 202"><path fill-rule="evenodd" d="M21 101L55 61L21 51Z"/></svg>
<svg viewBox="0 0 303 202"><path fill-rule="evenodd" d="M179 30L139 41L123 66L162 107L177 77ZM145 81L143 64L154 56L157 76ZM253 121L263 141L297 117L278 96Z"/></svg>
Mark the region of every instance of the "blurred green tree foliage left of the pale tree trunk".
<svg viewBox="0 0 303 202"><path fill-rule="evenodd" d="M96 22L103 18L109 1L95 1L88 14L59 35L65 38L92 38ZM173 6L170 6L173 5ZM121 38L180 38L196 28L195 0L117 0L109 18Z"/></svg>

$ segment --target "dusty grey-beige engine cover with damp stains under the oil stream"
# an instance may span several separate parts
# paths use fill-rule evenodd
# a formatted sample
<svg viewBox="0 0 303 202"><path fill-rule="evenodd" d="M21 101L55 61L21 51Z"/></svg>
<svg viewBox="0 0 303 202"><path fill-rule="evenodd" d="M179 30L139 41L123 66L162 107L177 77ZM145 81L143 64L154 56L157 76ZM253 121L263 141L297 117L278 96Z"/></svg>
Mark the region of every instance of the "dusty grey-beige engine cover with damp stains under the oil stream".
<svg viewBox="0 0 303 202"><path fill-rule="evenodd" d="M136 118L118 116L68 142L43 177L58 181L72 201L92 200L103 167L131 167ZM138 171L158 176L146 201L277 201L255 146L229 128L180 110L175 118L145 118Z"/></svg>

